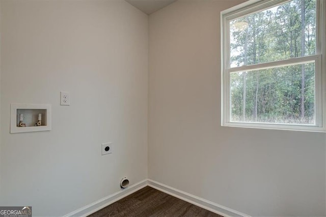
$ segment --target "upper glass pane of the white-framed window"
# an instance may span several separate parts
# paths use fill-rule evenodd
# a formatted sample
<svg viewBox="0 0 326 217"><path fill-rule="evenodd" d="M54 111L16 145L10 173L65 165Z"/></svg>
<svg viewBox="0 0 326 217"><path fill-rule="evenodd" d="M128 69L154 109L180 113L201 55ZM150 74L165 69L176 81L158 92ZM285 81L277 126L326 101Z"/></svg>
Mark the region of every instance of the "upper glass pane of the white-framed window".
<svg viewBox="0 0 326 217"><path fill-rule="evenodd" d="M229 24L230 67L316 53L316 0L293 0Z"/></svg>

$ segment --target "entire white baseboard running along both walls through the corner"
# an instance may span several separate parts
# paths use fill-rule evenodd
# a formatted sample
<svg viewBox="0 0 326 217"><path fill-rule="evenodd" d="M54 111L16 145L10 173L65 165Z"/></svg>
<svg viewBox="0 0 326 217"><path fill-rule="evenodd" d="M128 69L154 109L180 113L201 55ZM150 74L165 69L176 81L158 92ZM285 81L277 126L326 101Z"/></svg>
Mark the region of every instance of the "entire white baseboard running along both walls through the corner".
<svg viewBox="0 0 326 217"><path fill-rule="evenodd" d="M129 187L122 189L119 192L116 192L112 195L104 197L98 201L88 204L82 208L75 210L75 211L72 211L72 212L66 214L64 217L90 215L90 214L104 208L105 206L108 206L108 205L134 193L134 192L139 191L140 189L142 189L143 187L146 187L146 186L153 187L153 188L157 189L158 191L167 193L173 197L179 198L188 203L202 207L204 209L207 209L211 212L223 215L225 217L230 217L230 216L250 217L250 215L230 209L228 207L222 206L217 203L213 203L211 201L205 200L205 199L197 197L195 195L188 194L186 192L180 191L179 189L170 187L166 184L162 184L162 183L159 183L159 182L151 180L151 179L145 179L143 181L140 181L138 183L130 185Z"/></svg>

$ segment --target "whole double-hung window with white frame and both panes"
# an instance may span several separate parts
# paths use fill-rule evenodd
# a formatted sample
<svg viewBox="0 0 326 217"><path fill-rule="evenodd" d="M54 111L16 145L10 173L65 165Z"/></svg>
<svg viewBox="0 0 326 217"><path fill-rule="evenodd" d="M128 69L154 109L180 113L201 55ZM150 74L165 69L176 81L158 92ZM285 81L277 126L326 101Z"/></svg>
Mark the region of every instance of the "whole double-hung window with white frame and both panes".
<svg viewBox="0 0 326 217"><path fill-rule="evenodd" d="M223 126L325 131L325 5L265 0L221 13Z"/></svg>

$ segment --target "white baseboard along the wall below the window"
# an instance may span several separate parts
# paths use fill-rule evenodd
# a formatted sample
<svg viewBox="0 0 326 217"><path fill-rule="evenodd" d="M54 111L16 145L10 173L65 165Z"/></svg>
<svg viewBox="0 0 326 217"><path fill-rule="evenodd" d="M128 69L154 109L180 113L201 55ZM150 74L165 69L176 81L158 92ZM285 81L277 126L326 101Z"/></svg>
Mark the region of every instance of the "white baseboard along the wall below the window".
<svg viewBox="0 0 326 217"><path fill-rule="evenodd" d="M227 217L227 216L250 217L250 215L230 209L228 207L222 206L217 203L213 203L211 201L205 200L205 199L197 197L195 195L188 194L188 193L180 191L179 189L176 189L174 187L170 187L166 184L162 184L162 183L159 183L159 182L151 180L151 179L148 179L147 182L148 182L148 186L153 187L153 188L157 189L158 191L167 193L173 197L179 198L188 203L202 207L204 209L207 209L211 212L223 215L225 217Z"/></svg>

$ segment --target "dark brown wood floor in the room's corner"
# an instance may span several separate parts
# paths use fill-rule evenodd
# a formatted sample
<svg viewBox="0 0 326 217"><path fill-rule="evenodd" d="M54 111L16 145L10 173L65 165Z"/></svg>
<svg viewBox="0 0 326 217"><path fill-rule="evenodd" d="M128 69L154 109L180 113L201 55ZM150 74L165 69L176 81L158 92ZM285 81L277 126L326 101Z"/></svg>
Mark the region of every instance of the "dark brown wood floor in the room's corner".
<svg viewBox="0 0 326 217"><path fill-rule="evenodd" d="M152 187L139 191L89 215L99 216L214 216L221 215L185 202Z"/></svg>

